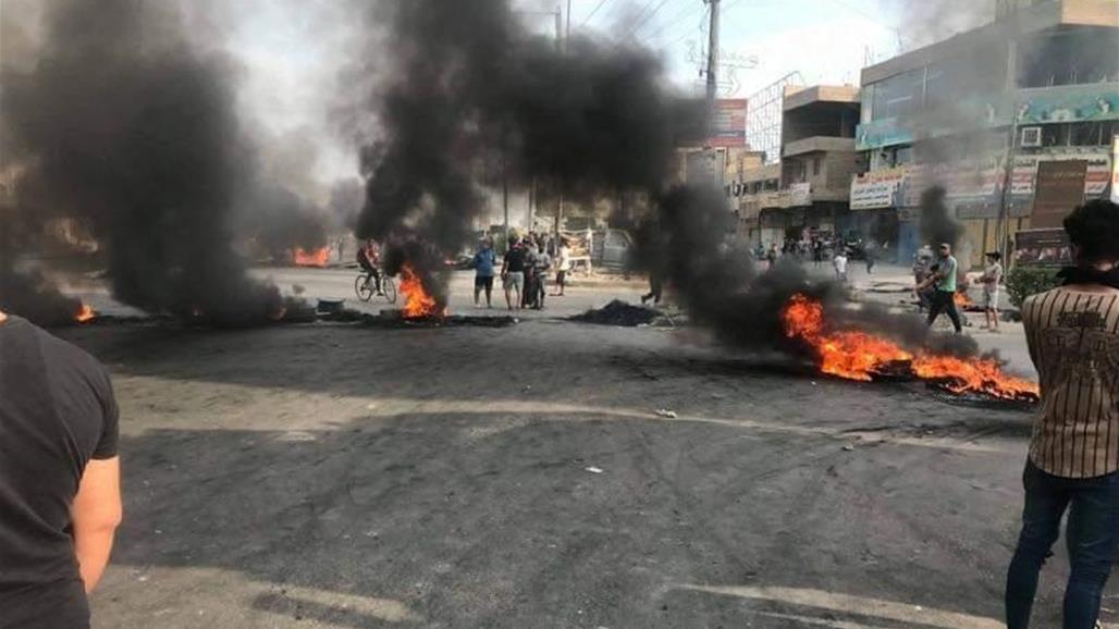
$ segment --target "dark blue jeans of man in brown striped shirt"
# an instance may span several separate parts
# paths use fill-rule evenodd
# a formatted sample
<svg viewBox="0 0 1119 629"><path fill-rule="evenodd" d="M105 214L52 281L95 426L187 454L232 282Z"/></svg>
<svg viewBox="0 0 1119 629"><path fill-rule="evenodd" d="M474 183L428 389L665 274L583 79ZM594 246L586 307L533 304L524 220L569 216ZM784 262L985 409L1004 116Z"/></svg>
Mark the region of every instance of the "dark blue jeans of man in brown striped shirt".
<svg viewBox="0 0 1119 629"><path fill-rule="evenodd" d="M1061 517L1068 509L1065 543L1071 571L1064 591L1064 629L1092 629L1119 550L1119 472L1062 478L1027 462L1022 481L1026 506L1018 548L1006 576L1006 625L1008 629L1029 626L1037 574L1061 533Z"/></svg>

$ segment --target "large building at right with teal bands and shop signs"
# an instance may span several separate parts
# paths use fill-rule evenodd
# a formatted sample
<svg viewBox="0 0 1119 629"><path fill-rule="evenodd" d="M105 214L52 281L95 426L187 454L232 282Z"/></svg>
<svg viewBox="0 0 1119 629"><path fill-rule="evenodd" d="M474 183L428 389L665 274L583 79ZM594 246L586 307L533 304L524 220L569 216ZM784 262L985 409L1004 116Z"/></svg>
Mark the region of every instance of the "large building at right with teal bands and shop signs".
<svg viewBox="0 0 1119 629"><path fill-rule="evenodd" d="M1119 0L1000 0L995 21L866 67L862 85L866 171L852 212L894 214L908 260L922 244L921 193L942 186L967 228L961 262L976 265L984 251L1010 251L1017 232L1059 226L1083 198L1108 194ZM1057 167L1084 184L1053 212L1035 200Z"/></svg>

